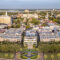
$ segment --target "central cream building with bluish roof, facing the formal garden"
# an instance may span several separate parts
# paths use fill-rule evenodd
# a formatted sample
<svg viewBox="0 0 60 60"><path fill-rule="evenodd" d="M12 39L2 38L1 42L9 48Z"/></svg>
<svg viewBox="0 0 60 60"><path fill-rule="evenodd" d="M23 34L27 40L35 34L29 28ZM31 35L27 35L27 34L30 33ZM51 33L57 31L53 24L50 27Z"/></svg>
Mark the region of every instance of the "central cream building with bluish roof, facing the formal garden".
<svg viewBox="0 0 60 60"><path fill-rule="evenodd" d="M37 46L37 35L35 30L27 30L24 37L24 46L29 49L33 48L33 45Z"/></svg>

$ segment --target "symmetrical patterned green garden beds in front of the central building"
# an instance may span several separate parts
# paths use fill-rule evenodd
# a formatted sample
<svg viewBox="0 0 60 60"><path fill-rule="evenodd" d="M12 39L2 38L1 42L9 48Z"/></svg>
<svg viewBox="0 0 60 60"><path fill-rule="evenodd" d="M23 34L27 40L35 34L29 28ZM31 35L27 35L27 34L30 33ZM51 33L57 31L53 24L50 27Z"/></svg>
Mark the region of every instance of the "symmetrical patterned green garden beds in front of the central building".
<svg viewBox="0 0 60 60"><path fill-rule="evenodd" d="M38 53L36 52L36 50L31 49L31 50L24 50L24 51L21 53L20 57L21 57L22 59L27 59L27 58L28 58L28 52L27 52L27 51L31 51L31 52L34 51L33 53L30 54L30 58L31 58L31 59L36 59L36 58L37 58Z"/></svg>

